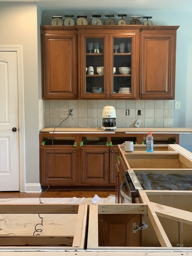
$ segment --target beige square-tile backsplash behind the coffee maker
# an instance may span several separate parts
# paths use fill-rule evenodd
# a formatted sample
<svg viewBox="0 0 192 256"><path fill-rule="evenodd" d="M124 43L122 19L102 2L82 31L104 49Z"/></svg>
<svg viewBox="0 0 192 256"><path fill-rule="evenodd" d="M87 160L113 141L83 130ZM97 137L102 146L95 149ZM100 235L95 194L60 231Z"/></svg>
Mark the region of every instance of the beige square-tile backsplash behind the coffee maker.
<svg viewBox="0 0 192 256"><path fill-rule="evenodd" d="M101 127L104 106L114 106L118 127L135 127L137 119L140 127L172 127L173 100L40 100L39 122L45 127ZM41 105L40 104L40 105ZM73 110L72 117L69 109ZM129 110L129 115L126 115ZM141 115L138 116L138 110ZM68 117L68 118L67 118ZM41 125L40 128L41 128Z"/></svg>

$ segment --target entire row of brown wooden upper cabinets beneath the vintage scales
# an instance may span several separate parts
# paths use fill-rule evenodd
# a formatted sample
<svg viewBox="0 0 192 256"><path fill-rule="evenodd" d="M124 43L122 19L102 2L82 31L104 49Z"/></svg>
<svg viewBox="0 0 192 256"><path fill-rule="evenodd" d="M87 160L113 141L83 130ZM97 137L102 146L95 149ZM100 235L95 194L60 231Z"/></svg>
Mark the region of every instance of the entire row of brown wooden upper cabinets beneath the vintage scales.
<svg viewBox="0 0 192 256"><path fill-rule="evenodd" d="M177 29L142 25L41 26L42 98L174 99ZM125 46L122 51L121 43ZM86 71L90 66L93 74ZM103 74L98 74L98 66L104 67ZM130 72L120 73L122 66L129 67Z"/></svg>

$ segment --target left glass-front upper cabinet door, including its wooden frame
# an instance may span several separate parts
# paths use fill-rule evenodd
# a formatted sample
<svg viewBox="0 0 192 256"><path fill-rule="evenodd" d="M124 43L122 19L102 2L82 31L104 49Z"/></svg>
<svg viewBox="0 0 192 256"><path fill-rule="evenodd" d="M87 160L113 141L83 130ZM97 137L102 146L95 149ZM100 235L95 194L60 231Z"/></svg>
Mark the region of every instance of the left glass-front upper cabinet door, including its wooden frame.
<svg viewBox="0 0 192 256"><path fill-rule="evenodd" d="M106 98L108 96L107 35L83 36L82 98Z"/></svg>

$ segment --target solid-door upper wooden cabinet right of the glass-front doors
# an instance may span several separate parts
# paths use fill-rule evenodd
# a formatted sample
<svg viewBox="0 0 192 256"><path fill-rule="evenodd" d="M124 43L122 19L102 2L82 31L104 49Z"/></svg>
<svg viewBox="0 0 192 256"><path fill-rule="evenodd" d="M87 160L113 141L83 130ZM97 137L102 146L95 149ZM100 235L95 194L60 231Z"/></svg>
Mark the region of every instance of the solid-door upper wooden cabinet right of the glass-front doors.
<svg viewBox="0 0 192 256"><path fill-rule="evenodd" d="M143 26L140 42L140 98L174 99L178 26Z"/></svg>

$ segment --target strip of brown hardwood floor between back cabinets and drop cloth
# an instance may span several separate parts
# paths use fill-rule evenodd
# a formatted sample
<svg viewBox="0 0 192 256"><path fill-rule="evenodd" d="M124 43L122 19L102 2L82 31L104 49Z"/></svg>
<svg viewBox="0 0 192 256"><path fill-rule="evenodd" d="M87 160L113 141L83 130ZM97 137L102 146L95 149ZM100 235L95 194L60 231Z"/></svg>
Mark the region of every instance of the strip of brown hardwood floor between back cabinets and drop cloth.
<svg viewBox="0 0 192 256"><path fill-rule="evenodd" d="M62 191L62 190L48 190L47 192L42 192L43 197L77 197L77 198L88 198L94 197L97 194L100 198L107 198L110 194L115 195L115 191ZM41 193L20 193L20 192L0 192L0 198L38 198Z"/></svg>

